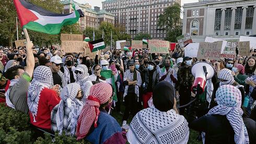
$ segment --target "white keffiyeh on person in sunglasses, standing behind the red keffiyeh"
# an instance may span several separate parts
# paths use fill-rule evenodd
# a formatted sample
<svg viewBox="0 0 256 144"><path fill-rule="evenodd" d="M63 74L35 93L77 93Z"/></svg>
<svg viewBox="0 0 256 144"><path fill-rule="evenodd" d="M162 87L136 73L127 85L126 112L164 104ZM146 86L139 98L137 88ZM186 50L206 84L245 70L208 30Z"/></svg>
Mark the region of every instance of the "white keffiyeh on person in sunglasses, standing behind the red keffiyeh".
<svg viewBox="0 0 256 144"><path fill-rule="evenodd" d="M82 74L79 74L79 73L76 74L76 79L84 92L84 97L82 99L82 102L85 104L85 101L89 96L90 88L92 86L92 82L88 73L88 68L86 65L81 64L81 65L78 65L75 70L82 72Z"/></svg>

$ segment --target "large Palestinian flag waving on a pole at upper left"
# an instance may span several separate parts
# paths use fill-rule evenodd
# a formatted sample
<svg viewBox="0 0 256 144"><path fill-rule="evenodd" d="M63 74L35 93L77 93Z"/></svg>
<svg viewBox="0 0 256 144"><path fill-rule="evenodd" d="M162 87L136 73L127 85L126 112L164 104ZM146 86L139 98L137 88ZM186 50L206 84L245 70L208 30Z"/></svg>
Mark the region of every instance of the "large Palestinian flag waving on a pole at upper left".
<svg viewBox="0 0 256 144"><path fill-rule="evenodd" d="M62 26L73 25L84 17L82 10L73 4L74 12L71 14L56 14L33 5L26 0L14 0L20 25L33 31L58 34Z"/></svg>

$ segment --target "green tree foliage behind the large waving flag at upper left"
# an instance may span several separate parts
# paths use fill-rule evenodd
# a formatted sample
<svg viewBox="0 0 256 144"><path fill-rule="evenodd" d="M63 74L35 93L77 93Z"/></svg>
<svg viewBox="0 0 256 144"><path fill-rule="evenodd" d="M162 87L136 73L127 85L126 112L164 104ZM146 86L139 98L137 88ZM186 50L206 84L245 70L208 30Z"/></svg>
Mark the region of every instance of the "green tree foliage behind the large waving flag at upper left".
<svg viewBox="0 0 256 144"><path fill-rule="evenodd" d="M42 7L53 13L62 13L63 5L60 0L30 0L31 3ZM17 39L16 34L16 17L17 13L12 0L1 1L0 3L0 42L4 45L13 46L14 40ZM25 39L25 35L21 35L21 28L18 22L19 39ZM30 40L38 45L50 45L60 42L60 34L46 34L28 30ZM77 25L64 26L61 33L82 34L77 30ZM6 43L6 41L8 43Z"/></svg>

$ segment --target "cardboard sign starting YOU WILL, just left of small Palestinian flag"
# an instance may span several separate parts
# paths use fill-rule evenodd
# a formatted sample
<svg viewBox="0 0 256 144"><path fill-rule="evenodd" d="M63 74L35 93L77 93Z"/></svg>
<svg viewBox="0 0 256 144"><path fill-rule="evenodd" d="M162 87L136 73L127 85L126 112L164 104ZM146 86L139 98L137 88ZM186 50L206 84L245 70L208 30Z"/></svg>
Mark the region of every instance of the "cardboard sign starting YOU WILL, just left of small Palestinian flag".
<svg viewBox="0 0 256 144"><path fill-rule="evenodd" d="M65 53L84 52L83 34L64 34L61 33L61 46Z"/></svg>

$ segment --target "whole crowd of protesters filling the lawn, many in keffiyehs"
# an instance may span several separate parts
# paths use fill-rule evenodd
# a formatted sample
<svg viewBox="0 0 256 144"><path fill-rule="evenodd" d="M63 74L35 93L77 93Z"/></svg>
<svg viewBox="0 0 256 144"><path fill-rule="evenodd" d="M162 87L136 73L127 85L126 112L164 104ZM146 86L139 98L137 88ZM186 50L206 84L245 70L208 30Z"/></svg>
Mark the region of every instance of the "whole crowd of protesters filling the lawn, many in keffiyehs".
<svg viewBox="0 0 256 144"><path fill-rule="evenodd" d="M92 143L187 143L190 129L206 143L256 143L252 55L210 61L186 57L184 49L101 50L89 57L85 47L84 53L32 42L1 47L0 102L28 114L36 128ZM215 76L199 103L179 109L195 96L191 68L201 61ZM122 115L121 126L112 111Z"/></svg>

